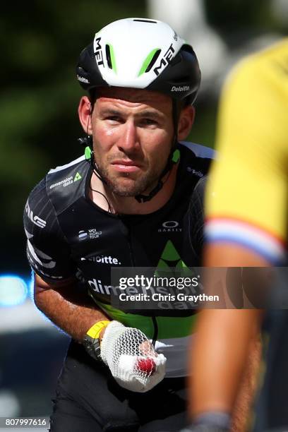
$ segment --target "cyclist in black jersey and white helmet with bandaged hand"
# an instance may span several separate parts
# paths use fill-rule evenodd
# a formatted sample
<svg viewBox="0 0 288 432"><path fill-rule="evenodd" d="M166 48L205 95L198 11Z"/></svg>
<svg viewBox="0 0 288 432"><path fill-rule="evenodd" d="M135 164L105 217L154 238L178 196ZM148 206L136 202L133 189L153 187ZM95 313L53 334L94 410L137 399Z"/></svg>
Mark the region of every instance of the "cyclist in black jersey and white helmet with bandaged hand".
<svg viewBox="0 0 288 432"><path fill-rule="evenodd" d="M212 150L179 143L193 124L198 61L169 25L128 18L97 32L77 78L88 90L85 155L50 170L24 213L35 304L72 338L51 431L175 431L186 424L195 315L116 308L111 268L200 263Z"/></svg>

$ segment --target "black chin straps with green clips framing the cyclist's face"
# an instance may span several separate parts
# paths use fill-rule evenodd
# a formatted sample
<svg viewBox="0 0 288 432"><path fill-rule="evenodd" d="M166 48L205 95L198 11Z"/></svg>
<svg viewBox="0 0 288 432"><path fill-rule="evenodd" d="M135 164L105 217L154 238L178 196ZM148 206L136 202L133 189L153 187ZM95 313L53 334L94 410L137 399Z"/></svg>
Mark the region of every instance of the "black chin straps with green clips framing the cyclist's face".
<svg viewBox="0 0 288 432"><path fill-rule="evenodd" d="M148 195L138 194L134 196L134 198L138 201L138 203L147 203L147 201L152 200L152 198L155 197L155 195L162 189L164 182L162 181L163 177L171 171L174 164L176 164L179 161L180 152L178 149L178 140L177 140L177 130L178 130L178 120L179 120L179 114L180 114L180 105L177 104L175 100L172 100L172 118L173 118L173 125L174 125L174 136L172 141L172 149L169 153L169 157L167 160L167 164L164 167L162 173L160 174L160 178L157 182L157 185L155 188L150 191ZM84 138L78 138L78 143L80 145L83 145L85 147L85 157L87 160L90 159L92 168L97 175L98 179L100 179L104 184L108 184L107 180L104 179L97 167L97 164L94 159L94 154L92 150L92 136L87 135Z"/></svg>

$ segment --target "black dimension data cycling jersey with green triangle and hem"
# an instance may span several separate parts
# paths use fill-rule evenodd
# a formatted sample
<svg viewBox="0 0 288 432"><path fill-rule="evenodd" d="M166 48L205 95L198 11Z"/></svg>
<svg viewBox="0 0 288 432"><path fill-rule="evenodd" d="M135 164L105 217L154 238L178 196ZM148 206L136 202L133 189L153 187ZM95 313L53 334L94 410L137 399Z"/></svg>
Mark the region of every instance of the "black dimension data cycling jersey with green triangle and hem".
<svg viewBox="0 0 288 432"><path fill-rule="evenodd" d="M37 275L47 282L76 276L80 289L88 289L110 318L157 340L173 376L185 373L193 309L123 311L110 304L110 289L112 267L200 265L203 188L212 150L192 143L181 143L179 150L174 193L148 215L114 215L95 205L85 157L52 169L30 193L24 214L28 260Z"/></svg>

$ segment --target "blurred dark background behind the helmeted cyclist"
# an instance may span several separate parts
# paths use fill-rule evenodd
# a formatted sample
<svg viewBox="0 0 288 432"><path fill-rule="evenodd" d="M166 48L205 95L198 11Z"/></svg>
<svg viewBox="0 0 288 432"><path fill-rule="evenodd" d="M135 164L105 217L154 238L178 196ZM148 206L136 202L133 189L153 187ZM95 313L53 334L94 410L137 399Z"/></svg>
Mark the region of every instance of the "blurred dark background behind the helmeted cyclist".
<svg viewBox="0 0 288 432"><path fill-rule="evenodd" d="M51 167L83 152L77 143L83 135L78 55L97 30L126 17L167 21L193 45L203 81L189 138L212 147L225 76L237 59L287 34L288 1L34 0L1 6L0 417L47 416L51 410L68 337L32 304L23 207Z"/></svg>

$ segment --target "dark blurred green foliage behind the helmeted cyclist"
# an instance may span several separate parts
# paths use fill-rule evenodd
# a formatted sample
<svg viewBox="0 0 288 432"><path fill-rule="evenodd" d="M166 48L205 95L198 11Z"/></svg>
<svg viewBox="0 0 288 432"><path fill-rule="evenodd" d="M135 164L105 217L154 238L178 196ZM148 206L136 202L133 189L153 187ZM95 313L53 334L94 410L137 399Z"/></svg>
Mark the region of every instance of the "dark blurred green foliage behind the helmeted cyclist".
<svg viewBox="0 0 288 432"><path fill-rule="evenodd" d="M157 0L155 0L157 1ZM192 0L193 1L193 0ZM275 28L268 1L205 0L208 20L222 32ZM181 0L179 0L181 6ZM75 67L102 26L148 16L144 0L14 1L1 6L0 270L28 272L22 214L31 188L47 170L83 152L77 107L83 91ZM198 102L190 139L213 145L217 100Z"/></svg>

